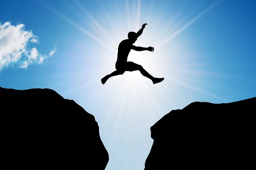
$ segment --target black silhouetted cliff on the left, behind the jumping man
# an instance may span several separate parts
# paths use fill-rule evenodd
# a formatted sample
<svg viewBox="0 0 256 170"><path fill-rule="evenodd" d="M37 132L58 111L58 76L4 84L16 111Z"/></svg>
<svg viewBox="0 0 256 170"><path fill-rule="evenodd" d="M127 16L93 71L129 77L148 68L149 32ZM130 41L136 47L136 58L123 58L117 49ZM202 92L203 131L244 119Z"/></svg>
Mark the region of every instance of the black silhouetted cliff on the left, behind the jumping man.
<svg viewBox="0 0 256 170"><path fill-rule="evenodd" d="M2 166L105 170L108 152L93 115L50 89L0 87Z"/></svg>

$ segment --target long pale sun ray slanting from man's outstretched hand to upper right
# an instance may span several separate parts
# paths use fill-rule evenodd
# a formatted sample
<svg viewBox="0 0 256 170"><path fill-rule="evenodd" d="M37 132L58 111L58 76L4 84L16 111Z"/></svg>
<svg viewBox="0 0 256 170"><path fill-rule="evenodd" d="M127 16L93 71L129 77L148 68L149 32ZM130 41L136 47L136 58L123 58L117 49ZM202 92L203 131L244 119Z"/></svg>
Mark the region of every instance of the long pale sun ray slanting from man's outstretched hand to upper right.
<svg viewBox="0 0 256 170"><path fill-rule="evenodd" d="M169 36L166 40L164 40L159 46L157 46L155 49L160 49L163 47L163 45L166 45L169 41L171 41L174 37L176 37L178 34L180 34L182 31L184 31L186 28L188 28L191 24L195 23L199 18L203 17L204 14L209 12L212 8L218 5L222 0L215 1L212 5L208 6L204 11L202 11L200 14L198 14L196 17L194 17L192 20L190 20L188 23L186 23L184 26L182 26L180 29L175 31L174 34Z"/></svg>

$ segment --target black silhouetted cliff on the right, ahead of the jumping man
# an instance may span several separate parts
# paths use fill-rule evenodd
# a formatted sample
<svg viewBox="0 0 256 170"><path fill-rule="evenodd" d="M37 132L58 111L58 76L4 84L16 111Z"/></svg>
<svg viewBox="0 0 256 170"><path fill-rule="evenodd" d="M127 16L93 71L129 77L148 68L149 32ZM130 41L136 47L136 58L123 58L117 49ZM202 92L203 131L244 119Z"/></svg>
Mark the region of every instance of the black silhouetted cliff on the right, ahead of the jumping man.
<svg viewBox="0 0 256 170"><path fill-rule="evenodd" d="M145 170L255 167L255 114L256 97L171 111L151 127Z"/></svg>

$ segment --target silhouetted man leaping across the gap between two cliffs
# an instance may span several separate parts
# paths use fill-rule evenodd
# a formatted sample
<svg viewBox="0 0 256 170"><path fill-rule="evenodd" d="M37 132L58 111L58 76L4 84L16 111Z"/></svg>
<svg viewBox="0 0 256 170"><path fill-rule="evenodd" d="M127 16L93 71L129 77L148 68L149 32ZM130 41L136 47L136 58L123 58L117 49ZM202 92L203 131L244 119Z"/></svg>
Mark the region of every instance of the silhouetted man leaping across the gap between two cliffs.
<svg viewBox="0 0 256 170"><path fill-rule="evenodd" d="M130 53L131 49L135 51L154 51L153 47L137 47L134 46L134 42L137 40L137 38L142 34L143 29L145 28L147 24L143 24L142 28L137 32L129 32L128 33L128 39L122 40L118 46L118 53L117 53L117 61L116 61L116 71L113 71L111 74L106 75L101 79L102 84L104 85L105 82L113 76L117 76L120 74L124 74L125 71L136 71L139 70L140 73L148 77L148 79L151 79L153 84L156 84L158 82L162 82L164 78L155 78L151 76L145 69L134 62L127 62L128 54Z"/></svg>

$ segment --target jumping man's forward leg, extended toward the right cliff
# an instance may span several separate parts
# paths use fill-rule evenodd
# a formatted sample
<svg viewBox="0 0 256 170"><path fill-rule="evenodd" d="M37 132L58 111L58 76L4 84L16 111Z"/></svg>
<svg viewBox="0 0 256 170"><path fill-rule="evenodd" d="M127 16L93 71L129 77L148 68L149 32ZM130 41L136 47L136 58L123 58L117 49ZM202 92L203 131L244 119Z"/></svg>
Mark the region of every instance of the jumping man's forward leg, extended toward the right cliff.
<svg viewBox="0 0 256 170"><path fill-rule="evenodd" d="M158 82L162 82L164 78L155 78L153 76L151 76L147 71L145 71L145 69L139 65L139 64L136 64L134 62L127 62L127 65L126 65L126 71L136 71L136 70L139 70L140 73L147 77L148 79L151 79L153 84L156 84Z"/></svg>

